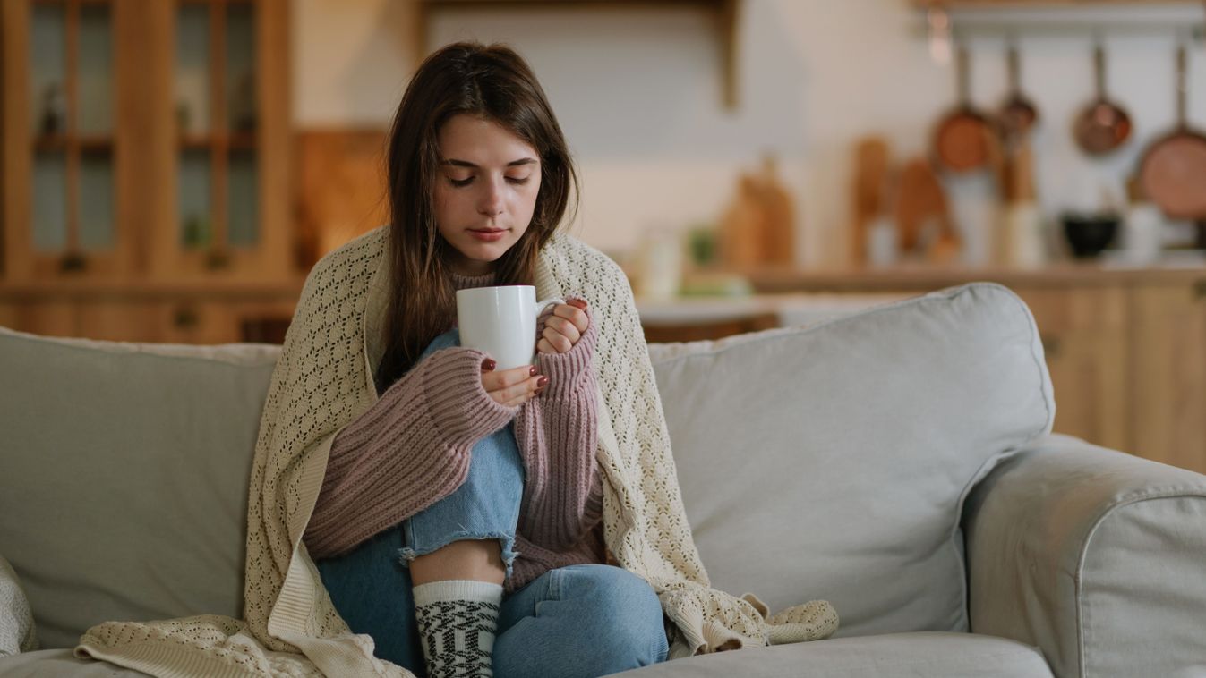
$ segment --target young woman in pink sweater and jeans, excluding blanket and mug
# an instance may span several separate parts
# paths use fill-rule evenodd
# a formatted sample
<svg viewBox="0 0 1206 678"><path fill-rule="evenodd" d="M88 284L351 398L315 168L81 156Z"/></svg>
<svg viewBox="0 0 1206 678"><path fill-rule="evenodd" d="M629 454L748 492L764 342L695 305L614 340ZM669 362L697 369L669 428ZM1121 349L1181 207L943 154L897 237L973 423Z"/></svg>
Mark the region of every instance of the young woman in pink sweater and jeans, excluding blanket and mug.
<svg viewBox="0 0 1206 678"><path fill-rule="evenodd" d="M351 630L418 674L593 677L667 656L654 589L604 564L593 290L540 318L531 366L494 370L453 328L455 290L535 283L575 185L515 52L457 43L420 66L388 145L380 399L332 443L305 531Z"/></svg>

